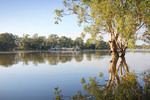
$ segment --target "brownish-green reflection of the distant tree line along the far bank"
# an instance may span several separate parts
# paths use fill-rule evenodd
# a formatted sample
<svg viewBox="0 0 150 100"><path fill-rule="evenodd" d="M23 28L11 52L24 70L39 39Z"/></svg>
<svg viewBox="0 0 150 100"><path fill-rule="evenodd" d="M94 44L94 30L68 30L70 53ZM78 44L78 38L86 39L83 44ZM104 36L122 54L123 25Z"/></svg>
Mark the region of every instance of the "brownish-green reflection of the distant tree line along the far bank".
<svg viewBox="0 0 150 100"><path fill-rule="evenodd" d="M102 59L103 56L109 55L109 52L103 51L85 51L85 52L18 52L18 53L1 53L0 65L4 67L10 67L13 64L23 62L28 65L30 62L35 66L38 64L46 63L50 65L57 65L58 63L70 62L73 59L76 62L81 62L85 56L88 60Z"/></svg>

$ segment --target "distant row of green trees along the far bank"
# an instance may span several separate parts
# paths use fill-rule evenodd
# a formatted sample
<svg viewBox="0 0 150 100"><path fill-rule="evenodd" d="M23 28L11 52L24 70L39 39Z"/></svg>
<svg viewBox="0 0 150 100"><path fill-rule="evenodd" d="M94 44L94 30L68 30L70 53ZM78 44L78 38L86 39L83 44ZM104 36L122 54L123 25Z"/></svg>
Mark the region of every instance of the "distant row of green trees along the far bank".
<svg viewBox="0 0 150 100"><path fill-rule="evenodd" d="M11 33L0 34L0 50L49 50L51 48L73 48L80 49L109 49L109 44L103 40L93 43L91 39L83 41L81 37L72 40L69 37L57 34L50 34L48 38L34 34L32 37L28 34L19 37Z"/></svg>

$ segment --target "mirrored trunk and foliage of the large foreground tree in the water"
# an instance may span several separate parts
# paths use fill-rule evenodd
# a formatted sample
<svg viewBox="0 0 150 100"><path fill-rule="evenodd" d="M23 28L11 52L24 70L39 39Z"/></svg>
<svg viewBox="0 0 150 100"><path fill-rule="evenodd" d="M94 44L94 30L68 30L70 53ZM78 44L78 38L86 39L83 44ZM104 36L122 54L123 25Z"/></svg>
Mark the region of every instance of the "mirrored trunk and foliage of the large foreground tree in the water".
<svg viewBox="0 0 150 100"><path fill-rule="evenodd" d="M141 86L138 82L138 76L129 73L128 65L125 58L121 58L117 67L118 58L112 58L109 69L110 77L108 83L103 74L100 76L89 77L88 82L84 78L81 84L86 92L79 90L73 97L62 95L62 90L55 88L55 99L73 99L73 100L150 100L150 73L144 72L140 78L145 82L145 86Z"/></svg>

